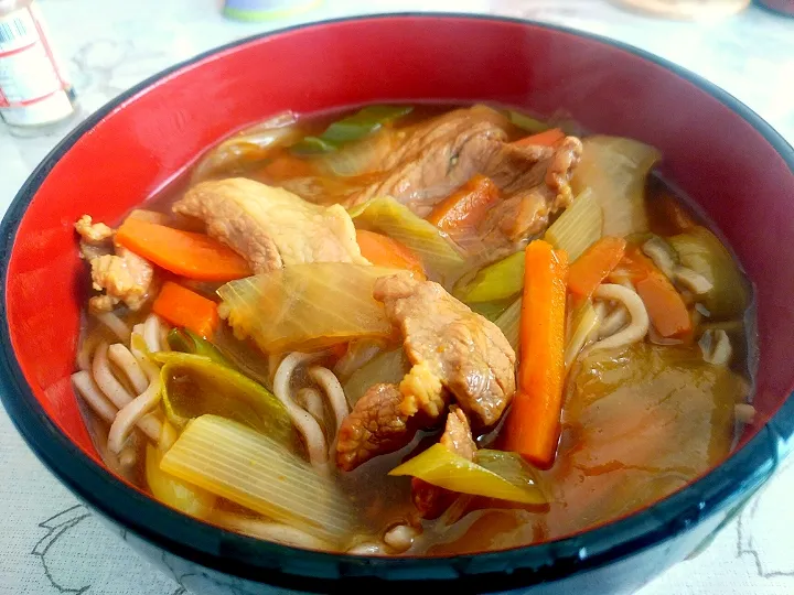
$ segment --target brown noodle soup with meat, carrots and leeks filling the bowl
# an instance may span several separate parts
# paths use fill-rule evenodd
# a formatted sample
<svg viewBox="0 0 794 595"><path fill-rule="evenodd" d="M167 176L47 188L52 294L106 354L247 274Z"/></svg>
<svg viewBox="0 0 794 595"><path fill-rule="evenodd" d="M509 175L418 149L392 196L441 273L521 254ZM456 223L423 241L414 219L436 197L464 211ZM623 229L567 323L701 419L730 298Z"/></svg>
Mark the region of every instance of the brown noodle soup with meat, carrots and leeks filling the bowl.
<svg viewBox="0 0 794 595"><path fill-rule="evenodd" d="M376 555L576 533L723 459L751 293L631 139L487 106L282 113L109 227L73 376L108 467Z"/></svg>

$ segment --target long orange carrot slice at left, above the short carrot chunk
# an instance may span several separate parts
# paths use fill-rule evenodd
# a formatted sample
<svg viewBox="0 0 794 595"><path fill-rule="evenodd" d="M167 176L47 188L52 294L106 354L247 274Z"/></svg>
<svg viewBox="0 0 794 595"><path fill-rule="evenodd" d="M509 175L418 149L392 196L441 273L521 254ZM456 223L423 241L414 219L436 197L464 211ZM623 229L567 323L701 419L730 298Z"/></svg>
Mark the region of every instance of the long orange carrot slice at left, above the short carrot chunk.
<svg viewBox="0 0 794 595"><path fill-rule="evenodd" d="M167 271L200 281L230 281L251 274L246 260L204 234L127 217L116 241Z"/></svg>

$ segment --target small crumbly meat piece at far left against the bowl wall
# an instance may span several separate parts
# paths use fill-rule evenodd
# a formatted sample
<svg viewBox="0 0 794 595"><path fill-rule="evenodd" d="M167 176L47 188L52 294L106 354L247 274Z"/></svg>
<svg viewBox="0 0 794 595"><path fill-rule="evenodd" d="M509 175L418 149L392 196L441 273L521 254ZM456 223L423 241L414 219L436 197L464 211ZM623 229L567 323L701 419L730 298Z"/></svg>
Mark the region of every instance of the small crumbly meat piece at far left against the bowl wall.
<svg viewBox="0 0 794 595"><path fill-rule="evenodd" d="M149 299L154 271L148 260L121 246L115 255L90 260L92 283L103 295L95 295L88 305L99 312L112 310L124 302L130 310L140 310Z"/></svg>

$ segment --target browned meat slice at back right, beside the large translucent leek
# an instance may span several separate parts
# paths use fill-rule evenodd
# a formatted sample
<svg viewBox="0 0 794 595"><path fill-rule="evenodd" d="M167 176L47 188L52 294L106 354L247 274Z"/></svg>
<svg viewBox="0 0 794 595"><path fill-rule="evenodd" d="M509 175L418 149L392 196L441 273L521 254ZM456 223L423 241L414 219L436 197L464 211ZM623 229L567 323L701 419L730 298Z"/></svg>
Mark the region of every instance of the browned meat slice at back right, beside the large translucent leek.
<svg viewBox="0 0 794 595"><path fill-rule="evenodd" d="M572 199L570 180L581 152L581 141L575 137L555 149L504 144L490 174L506 198L483 221L484 242L511 245L541 232L549 217Z"/></svg>

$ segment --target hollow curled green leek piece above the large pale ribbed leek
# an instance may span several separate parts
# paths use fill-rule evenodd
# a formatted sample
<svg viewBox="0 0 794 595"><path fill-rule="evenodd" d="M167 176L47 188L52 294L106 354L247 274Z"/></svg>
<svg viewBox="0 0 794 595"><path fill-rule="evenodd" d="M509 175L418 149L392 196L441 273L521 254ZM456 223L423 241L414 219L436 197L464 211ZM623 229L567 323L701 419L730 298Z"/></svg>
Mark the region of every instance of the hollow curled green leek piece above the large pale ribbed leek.
<svg viewBox="0 0 794 595"><path fill-rule="evenodd" d="M238 371L208 357L191 354L153 354L164 361L160 370L163 404L169 421L179 428L212 413L253 428L292 447L296 432L287 409L270 391Z"/></svg>

